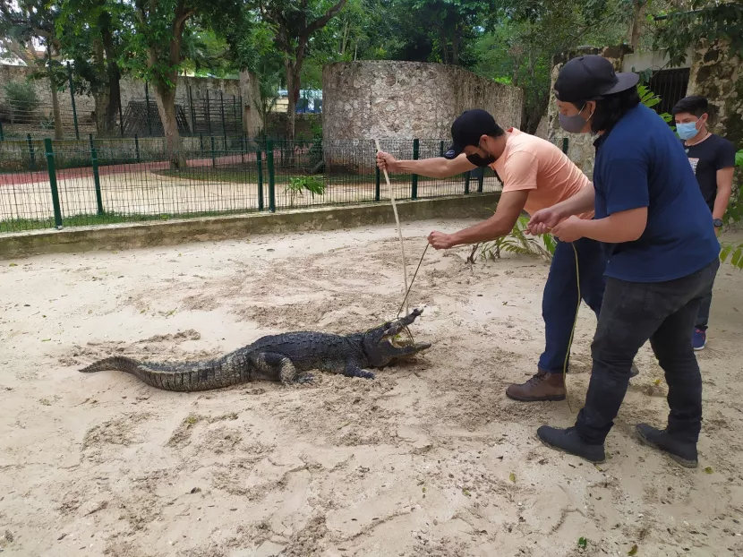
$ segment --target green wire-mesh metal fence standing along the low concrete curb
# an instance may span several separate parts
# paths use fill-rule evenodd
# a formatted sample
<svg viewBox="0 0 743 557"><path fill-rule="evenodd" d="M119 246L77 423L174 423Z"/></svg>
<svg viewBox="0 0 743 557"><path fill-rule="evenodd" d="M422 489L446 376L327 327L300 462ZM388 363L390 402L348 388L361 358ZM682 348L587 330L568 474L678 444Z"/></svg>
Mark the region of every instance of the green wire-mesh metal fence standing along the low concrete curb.
<svg viewBox="0 0 743 557"><path fill-rule="evenodd" d="M555 140L567 150L567 140ZM440 140L382 140L398 159L440 156ZM164 139L0 142L0 233L389 201L374 141ZM390 174L396 199L500 191L490 168L432 179Z"/></svg>

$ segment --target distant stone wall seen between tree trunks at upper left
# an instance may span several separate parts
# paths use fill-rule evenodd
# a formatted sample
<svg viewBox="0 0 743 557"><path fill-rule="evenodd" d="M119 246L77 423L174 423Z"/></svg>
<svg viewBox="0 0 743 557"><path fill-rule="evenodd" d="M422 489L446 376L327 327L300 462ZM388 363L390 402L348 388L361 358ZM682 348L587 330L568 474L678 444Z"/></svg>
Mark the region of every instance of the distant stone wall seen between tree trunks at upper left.
<svg viewBox="0 0 743 557"><path fill-rule="evenodd" d="M26 66L0 64L0 107L5 101L4 83L8 81L26 81L34 69ZM43 114L51 114L51 91L48 80L30 81L37 91L38 99L41 103L39 111ZM121 100L122 110L125 111L126 105L130 100L145 99L145 83L141 80L124 78L121 80ZM65 83L66 86L66 83ZM191 88L191 98L189 98L189 88ZM193 102L195 105L203 103L209 94L210 100L217 101L219 92L222 93L226 100L239 99L243 97L243 131L249 135L258 133L260 129L260 114L255 109L256 99L258 97L258 85L252 76L245 72L242 73L239 80L234 79L213 79L201 77L179 77L175 89L175 102L186 107ZM69 135L69 130L73 129L73 111L70 91L65 87L64 91L58 93L59 104L62 112L65 135ZM149 99L154 101L155 96L152 88L149 88ZM90 95L75 95L75 108L78 116L78 124L81 133L95 133L95 101ZM232 115L230 115L232 116Z"/></svg>

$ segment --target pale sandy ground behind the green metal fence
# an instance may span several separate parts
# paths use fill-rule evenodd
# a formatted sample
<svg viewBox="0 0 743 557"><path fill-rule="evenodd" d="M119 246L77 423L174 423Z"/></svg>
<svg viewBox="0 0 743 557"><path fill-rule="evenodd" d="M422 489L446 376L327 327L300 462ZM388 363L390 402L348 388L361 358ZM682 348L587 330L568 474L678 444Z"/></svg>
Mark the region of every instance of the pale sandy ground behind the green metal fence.
<svg viewBox="0 0 743 557"><path fill-rule="evenodd" d="M103 167L105 168L105 167ZM96 184L90 169L67 171L70 177L57 181L62 215L96 215ZM257 180L255 172L252 179ZM2 176L0 176L2 177ZM24 177L24 175L20 175ZM162 176L144 171L112 173L100 176L101 201L106 212L158 215L203 212L228 212L236 210L258 210L258 184L237 183L218 180L183 179ZM340 180L340 183L339 183ZM389 199L384 177L381 191ZM30 183L0 184L0 220L6 219L54 219L54 206L48 179ZM327 205L331 203L356 203L374 200L374 176L357 176L354 183L344 184L342 179L329 177L323 195L286 192L283 184L276 185L277 209L291 209ZM477 180L470 182L472 192L477 189ZM411 184L394 184L397 199L410 199ZM483 182L484 192L500 191L500 183L489 176ZM418 197L438 197L465 192L462 176L432 180L420 178ZM269 184L263 184L264 207L269 207Z"/></svg>

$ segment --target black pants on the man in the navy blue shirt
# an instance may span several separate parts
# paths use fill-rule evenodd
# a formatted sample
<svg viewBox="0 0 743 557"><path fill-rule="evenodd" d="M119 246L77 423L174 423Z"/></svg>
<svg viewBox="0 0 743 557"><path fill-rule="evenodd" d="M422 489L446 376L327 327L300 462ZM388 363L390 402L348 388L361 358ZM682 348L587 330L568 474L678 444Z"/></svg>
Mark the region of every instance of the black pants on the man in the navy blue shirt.
<svg viewBox="0 0 743 557"><path fill-rule="evenodd" d="M666 282L607 279L599 322L591 346L594 369L576 430L601 444L614 424L629 382L632 360L650 339L668 383L668 431L695 442L702 427L702 376L691 336L702 297L720 261L687 277Z"/></svg>

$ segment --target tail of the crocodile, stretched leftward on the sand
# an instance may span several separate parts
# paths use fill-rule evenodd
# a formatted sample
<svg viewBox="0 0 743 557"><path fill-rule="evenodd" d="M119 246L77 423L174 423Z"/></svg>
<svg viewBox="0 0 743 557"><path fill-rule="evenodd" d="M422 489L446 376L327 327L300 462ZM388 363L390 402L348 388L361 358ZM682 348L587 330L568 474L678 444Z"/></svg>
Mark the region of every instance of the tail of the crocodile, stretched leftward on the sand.
<svg viewBox="0 0 743 557"><path fill-rule="evenodd" d="M93 373L104 370L117 370L131 373L152 387L164 390L190 392L193 390L210 390L250 381L251 369L244 358L238 361L225 358L170 366L165 364L145 364L125 356L113 356L98 360L82 368L81 373Z"/></svg>

